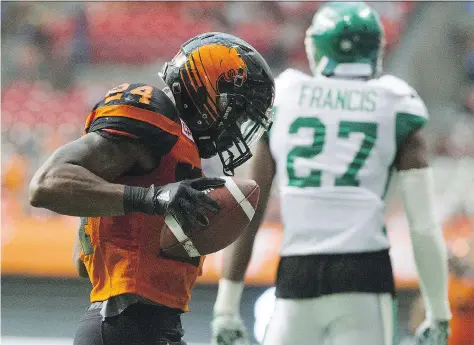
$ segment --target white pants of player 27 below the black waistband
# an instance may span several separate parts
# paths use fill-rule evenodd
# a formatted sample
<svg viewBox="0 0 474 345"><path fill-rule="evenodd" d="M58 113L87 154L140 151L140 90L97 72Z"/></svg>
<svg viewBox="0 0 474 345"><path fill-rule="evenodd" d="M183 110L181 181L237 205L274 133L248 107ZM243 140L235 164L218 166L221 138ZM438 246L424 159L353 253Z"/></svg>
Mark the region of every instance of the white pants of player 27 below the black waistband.
<svg viewBox="0 0 474 345"><path fill-rule="evenodd" d="M266 298L270 309L265 309L271 311ZM393 345L394 310L390 294L340 293L276 299L263 345ZM264 318L256 310L256 330Z"/></svg>

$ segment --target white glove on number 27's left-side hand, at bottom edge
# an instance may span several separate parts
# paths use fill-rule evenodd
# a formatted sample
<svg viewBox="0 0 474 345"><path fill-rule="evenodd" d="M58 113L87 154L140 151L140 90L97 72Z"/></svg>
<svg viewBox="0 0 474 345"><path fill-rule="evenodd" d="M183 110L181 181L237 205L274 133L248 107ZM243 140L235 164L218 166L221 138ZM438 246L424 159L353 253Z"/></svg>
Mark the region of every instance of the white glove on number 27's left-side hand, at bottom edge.
<svg viewBox="0 0 474 345"><path fill-rule="evenodd" d="M216 314L211 329L211 345L250 345L247 329L239 315Z"/></svg>

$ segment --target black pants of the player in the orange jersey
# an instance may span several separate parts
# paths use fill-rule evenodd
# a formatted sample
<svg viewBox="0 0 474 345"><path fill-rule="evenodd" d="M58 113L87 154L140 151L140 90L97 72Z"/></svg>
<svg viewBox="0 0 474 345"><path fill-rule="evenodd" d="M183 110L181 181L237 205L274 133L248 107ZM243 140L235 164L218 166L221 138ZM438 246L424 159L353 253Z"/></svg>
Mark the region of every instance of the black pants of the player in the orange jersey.
<svg viewBox="0 0 474 345"><path fill-rule="evenodd" d="M89 308L74 336L74 345L186 345L180 312L135 303L102 321L100 307Z"/></svg>

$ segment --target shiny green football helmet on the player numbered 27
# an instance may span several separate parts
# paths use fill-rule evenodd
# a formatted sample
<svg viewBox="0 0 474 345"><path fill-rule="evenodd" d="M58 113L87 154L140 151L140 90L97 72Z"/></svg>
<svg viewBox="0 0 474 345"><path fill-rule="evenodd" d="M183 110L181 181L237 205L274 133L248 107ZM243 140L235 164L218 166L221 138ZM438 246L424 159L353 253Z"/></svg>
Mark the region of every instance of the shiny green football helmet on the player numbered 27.
<svg viewBox="0 0 474 345"><path fill-rule="evenodd" d="M374 78L382 72L385 34L363 2L330 2L316 12L305 47L315 75Z"/></svg>

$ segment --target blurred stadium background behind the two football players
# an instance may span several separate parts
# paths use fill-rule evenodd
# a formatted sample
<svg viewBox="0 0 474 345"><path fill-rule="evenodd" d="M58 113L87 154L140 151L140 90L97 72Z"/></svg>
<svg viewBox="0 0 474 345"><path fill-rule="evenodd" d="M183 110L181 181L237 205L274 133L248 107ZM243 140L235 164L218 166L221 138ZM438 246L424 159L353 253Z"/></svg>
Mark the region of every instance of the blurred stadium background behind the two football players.
<svg viewBox="0 0 474 345"><path fill-rule="evenodd" d="M81 135L95 102L122 82L153 84L162 63L206 31L247 40L275 75L287 67L309 72L303 38L321 4L2 1L2 343L72 344L88 305L89 283L76 278L71 259L78 221L31 208L26 186L55 148ZM426 136L454 263L453 308L461 320L474 319L474 274L466 269L474 267L474 2L372 5L387 34L385 72L407 80L430 110ZM403 209L392 189L387 228L403 341L418 292ZM243 297L250 329L255 300L273 282L280 236L275 196ZM185 339L192 344L210 339L220 265L219 253L208 258L184 316Z"/></svg>

